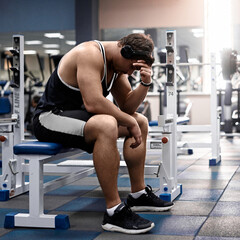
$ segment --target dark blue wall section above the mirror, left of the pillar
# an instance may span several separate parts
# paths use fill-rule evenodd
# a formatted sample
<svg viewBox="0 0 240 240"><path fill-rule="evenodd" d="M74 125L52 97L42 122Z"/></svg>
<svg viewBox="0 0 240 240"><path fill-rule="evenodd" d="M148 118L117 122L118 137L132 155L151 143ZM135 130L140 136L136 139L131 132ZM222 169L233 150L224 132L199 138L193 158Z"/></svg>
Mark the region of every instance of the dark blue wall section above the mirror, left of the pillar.
<svg viewBox="0 0 240 240"><path fill-rule="evenodd" d="M72 30L75 0L1 0L0 23L0 33Z"/></svg>

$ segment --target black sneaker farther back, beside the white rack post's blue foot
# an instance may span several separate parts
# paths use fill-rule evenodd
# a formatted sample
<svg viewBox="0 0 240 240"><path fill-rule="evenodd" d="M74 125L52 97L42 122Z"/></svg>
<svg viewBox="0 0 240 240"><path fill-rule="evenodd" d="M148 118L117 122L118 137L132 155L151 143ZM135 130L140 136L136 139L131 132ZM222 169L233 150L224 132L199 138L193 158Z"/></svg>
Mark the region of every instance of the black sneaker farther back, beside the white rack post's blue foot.
<svg viewBox="0 0 240 240"><path fill-rule="evenodd" d="M145 188L146 194L142 194L139 198L135 199L128 195L127 204L131 207L132 211L152 211L152 212L163 212L173 207L173 202L167 202L156 196L152 187L147 185Z"/></svg>

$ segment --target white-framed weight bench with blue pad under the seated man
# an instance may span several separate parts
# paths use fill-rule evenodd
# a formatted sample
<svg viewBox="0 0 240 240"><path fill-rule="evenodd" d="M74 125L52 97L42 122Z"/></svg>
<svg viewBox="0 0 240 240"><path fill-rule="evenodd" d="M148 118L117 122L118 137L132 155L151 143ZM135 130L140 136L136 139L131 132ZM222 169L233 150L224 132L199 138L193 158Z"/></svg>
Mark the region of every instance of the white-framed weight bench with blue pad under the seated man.
<svg viewBox="0 0 240 240"><path fill-rule="evenodd" d="M67 177L53 180L51 181L53 187L51 187L51 182L43 183L44 164L55 160L55 155L69 151L69 149L64 149L58 143L31 141L15 145L13 151L18 161L22 159L29 161L29 213L7 214L4 227L69 228L67 215L44 214L44 192L88 176L94 172L93 168L87 170L85 168L83 171L72 172Z"/></svg>

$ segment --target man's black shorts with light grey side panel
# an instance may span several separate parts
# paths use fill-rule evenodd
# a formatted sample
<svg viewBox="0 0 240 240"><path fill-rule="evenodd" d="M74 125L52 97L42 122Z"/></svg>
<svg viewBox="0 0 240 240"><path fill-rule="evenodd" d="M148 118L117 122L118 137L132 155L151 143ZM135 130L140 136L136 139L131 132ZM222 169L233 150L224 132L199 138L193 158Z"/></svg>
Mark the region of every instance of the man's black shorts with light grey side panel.
<svg viewBox="0 0 240 240"><path fill-rule="evenodd" d="M33 120L34 135L41 142L61 143L92 153L94 144L87 144L84 138L85 124L92 116L86 110L43 112Z"/></svg>

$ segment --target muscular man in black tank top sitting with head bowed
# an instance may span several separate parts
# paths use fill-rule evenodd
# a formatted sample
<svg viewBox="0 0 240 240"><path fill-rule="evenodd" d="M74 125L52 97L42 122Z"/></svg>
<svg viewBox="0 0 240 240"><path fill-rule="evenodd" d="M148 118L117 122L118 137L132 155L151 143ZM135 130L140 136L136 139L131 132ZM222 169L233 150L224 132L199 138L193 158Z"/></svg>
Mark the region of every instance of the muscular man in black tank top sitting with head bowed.
<svg viewBox="0 0 240 240"><path fill-rule="evenodd" d="M154 223L131 208L165 211L173 206L144 182L148 121L136 110L151 85L153 48L152 39L144 34L81 43L61 59L35 110L37 139L93 153L107 206L102 227L108 231L147 232ZM135 70L140 71L141 84L132 90L128 75ZM109 92L118 106L106 98ZM123 154L131 181L125 204L117 187L119 137L125 137Z"/></svg>

